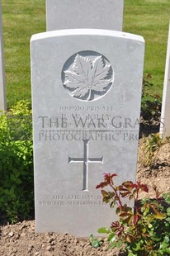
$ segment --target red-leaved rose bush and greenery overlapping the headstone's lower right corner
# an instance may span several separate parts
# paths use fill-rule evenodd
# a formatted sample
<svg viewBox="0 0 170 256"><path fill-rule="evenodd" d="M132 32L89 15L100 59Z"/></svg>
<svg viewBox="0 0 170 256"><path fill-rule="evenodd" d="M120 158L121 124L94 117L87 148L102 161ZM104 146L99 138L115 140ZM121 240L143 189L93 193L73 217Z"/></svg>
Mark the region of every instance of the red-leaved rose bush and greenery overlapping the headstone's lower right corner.
<svg viewBox="0 0 170 256"><path fill-rule="evenodd" d="M139 192L149 192L141 183L127 181L116 186L113 178L116 174L104 174L104 181L97 185L102 188L103 201L116 208L118 221L111 223L110 228L102 227L99 233L108 235L109 249L122 244L128 256L167 256L170 254L170 193L156 198L139 201ZM107 192L103 187L110 187ZM135 208L127 206L123 199L135 201Z"/></svg>

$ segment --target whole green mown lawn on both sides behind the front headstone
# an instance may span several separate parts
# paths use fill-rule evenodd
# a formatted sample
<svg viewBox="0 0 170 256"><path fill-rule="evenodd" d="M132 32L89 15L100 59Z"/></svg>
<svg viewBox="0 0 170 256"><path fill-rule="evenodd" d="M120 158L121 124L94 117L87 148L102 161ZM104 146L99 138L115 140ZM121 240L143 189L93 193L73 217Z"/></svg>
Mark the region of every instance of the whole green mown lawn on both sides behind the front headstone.
<svg viewBox="0 0 170 256"><path fill-rule="evenodd" d="M152 94L163 91L169 13L169 0L125 0L124 31L144 36L144 74L152 73ZM31 100L30 38L45 31L45 0L2 0L2 22L11 107L18 100Z"/></svg>

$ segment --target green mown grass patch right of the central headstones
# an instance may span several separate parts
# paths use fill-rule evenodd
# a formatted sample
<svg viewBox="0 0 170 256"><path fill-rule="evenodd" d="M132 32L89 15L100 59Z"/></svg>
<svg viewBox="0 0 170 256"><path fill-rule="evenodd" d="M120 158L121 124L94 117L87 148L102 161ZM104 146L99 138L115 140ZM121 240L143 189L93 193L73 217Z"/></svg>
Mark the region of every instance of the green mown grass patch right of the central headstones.
<svg viewBox="0 0 170 256"><path fill-rule="evenodd" d="M124 0L124 31L144 36L144 74L152 74L149 92L162 96L167 54L169 0Z"/></svg>

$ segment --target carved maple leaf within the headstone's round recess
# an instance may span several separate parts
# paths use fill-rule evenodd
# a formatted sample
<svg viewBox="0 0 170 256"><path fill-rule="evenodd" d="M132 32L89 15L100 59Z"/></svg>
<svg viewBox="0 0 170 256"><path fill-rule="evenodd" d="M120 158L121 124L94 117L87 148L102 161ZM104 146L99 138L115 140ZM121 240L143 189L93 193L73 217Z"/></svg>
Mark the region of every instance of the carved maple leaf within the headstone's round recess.
<svg viewBox="0 0 170 256"><path fill-rule="evenodd" d="M64 71L64 86L73 97L91 101L95 94L103 95L111 87L112 81L107 78L110 71L111 64L105 64L102 55L91 61L77 54L72 69Z"/></svg>

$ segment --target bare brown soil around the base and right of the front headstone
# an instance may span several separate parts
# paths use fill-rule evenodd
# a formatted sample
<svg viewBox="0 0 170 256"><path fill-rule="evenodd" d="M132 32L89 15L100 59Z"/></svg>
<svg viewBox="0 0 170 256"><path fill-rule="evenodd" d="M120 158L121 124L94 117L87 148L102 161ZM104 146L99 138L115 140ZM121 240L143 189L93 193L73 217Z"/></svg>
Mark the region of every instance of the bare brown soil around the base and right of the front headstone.
<svg viewBox="0 0 170 256"><path fill-rule="evenodd" d="M155 153L153 163L144 167L144 144L139 143L139 165L137 179L147 184L149 194L154 197L153 184L159 192L170 190L170 143L162 145ZM106 240L106 239L105 239ZM104 243L98 249L92 248L89 239L80 239L64 234L35 234L35 221L25 220L15 225L0 226L1 256L114 256L125 255L118 250L107 251Z"/></svg>

